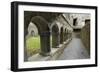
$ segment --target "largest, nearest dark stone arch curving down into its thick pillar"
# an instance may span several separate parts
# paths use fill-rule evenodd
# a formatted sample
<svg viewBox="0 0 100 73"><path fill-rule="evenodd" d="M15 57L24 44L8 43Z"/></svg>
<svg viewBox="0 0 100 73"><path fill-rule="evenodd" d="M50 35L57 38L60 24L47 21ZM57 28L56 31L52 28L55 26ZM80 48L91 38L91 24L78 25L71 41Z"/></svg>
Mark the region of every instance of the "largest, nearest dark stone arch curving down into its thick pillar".
<svg viewBox="0 0 100 73"><path fill-rule="evenodd" d="M31 21L34 23L39 31L40 35L40 54L43 56L50 54L50 29L48 27L48 22L41 16L32 17Z"/></svg>

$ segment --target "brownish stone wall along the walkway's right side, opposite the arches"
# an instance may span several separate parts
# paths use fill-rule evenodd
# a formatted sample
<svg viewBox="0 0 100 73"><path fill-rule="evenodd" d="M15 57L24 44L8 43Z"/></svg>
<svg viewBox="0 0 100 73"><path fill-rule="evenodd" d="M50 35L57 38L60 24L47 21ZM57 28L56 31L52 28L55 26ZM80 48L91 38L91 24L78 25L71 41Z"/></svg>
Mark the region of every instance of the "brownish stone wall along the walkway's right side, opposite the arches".
<svg viewBox="0 0 100 73"><path fill-rule="evenodd" d="M90 54L90 20L85 20L85 26L81 29L80 38Z"/></svg>

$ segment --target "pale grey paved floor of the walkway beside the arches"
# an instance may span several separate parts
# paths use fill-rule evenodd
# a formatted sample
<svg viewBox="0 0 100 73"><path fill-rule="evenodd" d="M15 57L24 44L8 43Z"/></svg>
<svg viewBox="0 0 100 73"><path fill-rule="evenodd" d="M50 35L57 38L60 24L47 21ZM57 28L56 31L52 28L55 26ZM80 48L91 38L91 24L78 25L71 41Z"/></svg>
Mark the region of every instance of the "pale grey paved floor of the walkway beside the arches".
<svg viewBox="0 0 100 73"><path fill-rule="evenodd" d="M89 55L80 38L73 37L58 60L87 59Z"/></svg>

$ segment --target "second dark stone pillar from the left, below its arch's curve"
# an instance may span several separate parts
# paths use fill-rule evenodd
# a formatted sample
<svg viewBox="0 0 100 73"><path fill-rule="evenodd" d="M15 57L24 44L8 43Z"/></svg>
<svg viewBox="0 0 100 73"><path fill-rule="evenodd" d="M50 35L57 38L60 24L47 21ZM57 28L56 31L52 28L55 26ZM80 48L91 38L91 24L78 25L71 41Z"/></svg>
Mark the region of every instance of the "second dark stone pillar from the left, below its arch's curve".
<svg viewBox="0 0 100 73"><path fill-rule="evenodd" d="M59 40L60 40L59 32L52 33L52 47L53 48L59 47L59 44L60 44Z"/></svg>

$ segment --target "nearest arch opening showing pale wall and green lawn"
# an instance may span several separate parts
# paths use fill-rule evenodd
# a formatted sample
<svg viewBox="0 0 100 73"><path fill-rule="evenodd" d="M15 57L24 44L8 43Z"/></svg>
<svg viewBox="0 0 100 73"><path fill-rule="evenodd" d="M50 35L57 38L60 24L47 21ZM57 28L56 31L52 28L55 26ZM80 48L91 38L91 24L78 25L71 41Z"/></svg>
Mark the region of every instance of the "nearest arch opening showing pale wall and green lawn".
<svg viewBox="0 0 100 73"><path fill-rule="evenodd" d="M40 51L40 35L37 26L30 22L26 38L27 56L31 57Z"/></svg>

